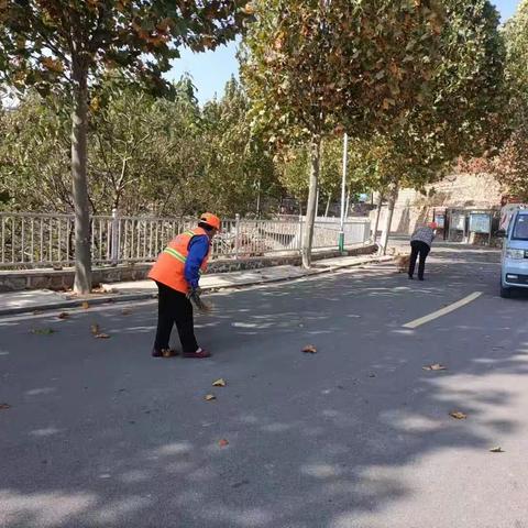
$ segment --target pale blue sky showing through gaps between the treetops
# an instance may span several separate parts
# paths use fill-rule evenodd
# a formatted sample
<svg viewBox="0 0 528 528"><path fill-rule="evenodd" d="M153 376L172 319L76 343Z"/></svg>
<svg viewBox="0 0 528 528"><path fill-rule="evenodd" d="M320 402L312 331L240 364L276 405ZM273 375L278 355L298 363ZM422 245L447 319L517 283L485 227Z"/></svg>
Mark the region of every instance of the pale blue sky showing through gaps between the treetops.
<svg viewBox="0 0 528 528"><path fill-rule="evenodd" d="M495 0L503 21L514 14L520 0ZM197 97L200 102L212 99L215 95L221 96L223 87L232 75L238 75L237 44L221 46L215 52L200 54L184 50L182 58L175 61L169 73L169 78L178 79L182 74L188 73L198 89Z"/></svg>

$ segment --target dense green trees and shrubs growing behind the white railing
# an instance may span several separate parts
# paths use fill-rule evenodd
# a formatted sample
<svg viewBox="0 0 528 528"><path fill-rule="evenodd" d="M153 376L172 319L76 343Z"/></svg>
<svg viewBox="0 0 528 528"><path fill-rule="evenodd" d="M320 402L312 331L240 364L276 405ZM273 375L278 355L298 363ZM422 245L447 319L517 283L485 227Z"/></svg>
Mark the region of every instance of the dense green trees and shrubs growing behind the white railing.
<svg viewBox="0 0 528 528"><path fill-rule="evenodd" d="M276 204L273 153L252 135L243 87L200 108L190 79L157 98L107 77L91 99L89 210L109 215L224 217ZM0 112L0 209L72 212L69 99L35 91ZM270 201L271 200L271 201Z"/></svg>

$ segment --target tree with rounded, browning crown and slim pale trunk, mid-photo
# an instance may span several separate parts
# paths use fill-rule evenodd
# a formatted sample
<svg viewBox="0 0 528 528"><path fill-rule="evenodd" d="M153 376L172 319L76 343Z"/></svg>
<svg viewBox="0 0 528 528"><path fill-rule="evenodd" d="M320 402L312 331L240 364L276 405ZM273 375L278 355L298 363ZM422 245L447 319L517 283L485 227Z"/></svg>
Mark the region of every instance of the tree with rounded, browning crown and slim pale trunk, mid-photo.
<svg viewBox="0 0 528 528"><path fill-rule="evenodd" d="M242 72L257 128L278 143L309 142L302 262L310 265L321 140L394 128L420 103L437 67L440 2L260 0Z"/></svg>

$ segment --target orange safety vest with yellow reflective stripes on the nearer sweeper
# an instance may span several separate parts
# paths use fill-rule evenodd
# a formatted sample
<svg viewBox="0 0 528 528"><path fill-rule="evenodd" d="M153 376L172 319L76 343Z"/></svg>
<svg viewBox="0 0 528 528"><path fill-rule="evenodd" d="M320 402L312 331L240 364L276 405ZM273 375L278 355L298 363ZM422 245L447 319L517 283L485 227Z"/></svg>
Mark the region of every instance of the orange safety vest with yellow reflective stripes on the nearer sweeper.
<svg viewBox="0 0 528 528"><path fill-rule="evenodd" d="M185 263L189 254L189 244L194 237L207 235L207 231L202 228L191 229L178 234L174 238L167 248L157 257L156 263L152 266L148 273L148 278L162 283L176 292L187 294L189 292L189 284L185 279ZM207 270L207 262L209 261L209 253L204 258L200 266L200 274Z"/></svg>

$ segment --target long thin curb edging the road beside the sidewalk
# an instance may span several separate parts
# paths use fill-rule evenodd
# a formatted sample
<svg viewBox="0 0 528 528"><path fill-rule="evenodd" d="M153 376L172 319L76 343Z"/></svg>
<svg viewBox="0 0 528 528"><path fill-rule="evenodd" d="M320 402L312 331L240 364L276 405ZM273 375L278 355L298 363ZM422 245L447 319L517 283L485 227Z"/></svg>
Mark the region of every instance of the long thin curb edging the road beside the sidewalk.
<svg viewBox="0 0 528 528"><path fill-rule="evenodd" d="M312 277L317 275L323 275L337 272L339 270L344 270L348 267L358 267L363 266L365 264L380 264L382 262L391 262L393 261L393 256L377 256L374 258L365 258L360 262L352 262L350 264L340 264L337 266L331 266L323 270L314 270L305 272L302 275L297 277L279 277L279 278L264 278L261 280L251 280L248 283L239 283L239 284L230 284L226 286L209 286L204 287L204 292L221 292L223 289L238 289L238 288L246 288L251 286L258 286L261 284L272 284L272 283L284 283L287 280L298 280L305 277ZM157 294L154 292L148 292L144 294L123 294L123 295L106 295L96 298L79 298L79 299L68 299L62 302L56 304L46 304L46 305L35 305L31 307L18 307L18 308L4 308L0 309L0 316L16 316L21 314L31 314L35 311L54 311L64 308L80 308L82 302L88 302L91 306L101 306L101 305L111 305L117 302L131 302L134 300L146 300L146 299L155 299L157 298Z"/></svg>

